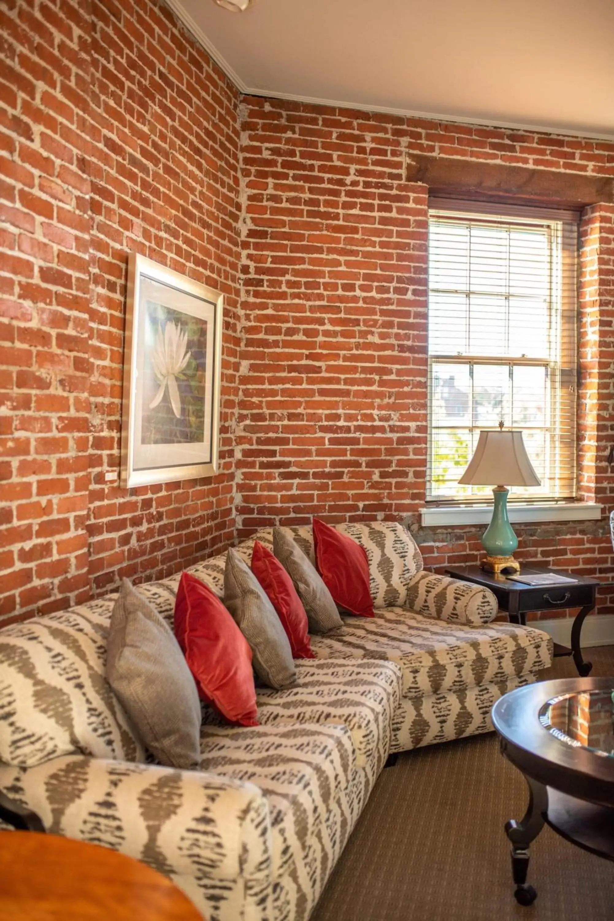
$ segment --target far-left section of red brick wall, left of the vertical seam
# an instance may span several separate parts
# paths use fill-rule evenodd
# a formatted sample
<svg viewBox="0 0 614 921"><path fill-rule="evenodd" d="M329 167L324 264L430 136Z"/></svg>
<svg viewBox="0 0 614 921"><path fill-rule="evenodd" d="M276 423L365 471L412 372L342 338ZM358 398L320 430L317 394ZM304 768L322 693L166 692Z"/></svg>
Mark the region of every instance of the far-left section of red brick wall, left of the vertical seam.
<svg viewBox="0 0 614 921"><path fill-rule="evenodd" d="M87 598L91 19L0 7L0 620Z"/></svg>

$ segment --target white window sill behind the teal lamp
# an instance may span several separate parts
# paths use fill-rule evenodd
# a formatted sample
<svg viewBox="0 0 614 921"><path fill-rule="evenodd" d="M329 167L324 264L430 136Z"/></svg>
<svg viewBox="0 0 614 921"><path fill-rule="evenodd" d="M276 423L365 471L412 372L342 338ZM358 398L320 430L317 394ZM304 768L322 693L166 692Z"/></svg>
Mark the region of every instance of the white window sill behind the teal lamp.
<svg viewBox="0 0 614 921"><path fill-rule="evenodd" d="M559 505L508 506L509 519L516 521L588 521L601 518L602 506L592 502L564 502ZM454 524L488 524L492 517L490 506L421 508L422 525L426 528Z"/></svg>

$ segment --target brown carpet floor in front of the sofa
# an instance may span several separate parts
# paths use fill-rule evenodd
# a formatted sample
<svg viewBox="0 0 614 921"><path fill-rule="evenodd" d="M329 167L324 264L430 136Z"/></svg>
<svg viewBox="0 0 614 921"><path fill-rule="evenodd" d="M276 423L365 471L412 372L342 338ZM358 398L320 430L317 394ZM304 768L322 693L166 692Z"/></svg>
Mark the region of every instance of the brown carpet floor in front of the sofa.
<svg viewBox="0 0 614 921"><path fill-rule="evenodd" d="M614 675L614 647L586 650L592 677ZM576 676L556 659L547 678ZM613 921L614 864L546 826L516 904L508 819L527 805L523 776L494 733L406 752L377 781L312 921Z"/></svg>

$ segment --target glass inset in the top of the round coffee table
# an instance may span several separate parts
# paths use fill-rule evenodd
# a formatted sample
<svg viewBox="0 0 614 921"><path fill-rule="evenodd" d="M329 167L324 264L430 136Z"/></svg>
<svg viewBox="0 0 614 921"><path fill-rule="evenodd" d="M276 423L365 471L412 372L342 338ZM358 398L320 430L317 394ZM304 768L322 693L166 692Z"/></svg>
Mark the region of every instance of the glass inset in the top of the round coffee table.
<svg viewBox="0 0 614 921"><path fill-rule="evenodd" d="M562 742L614 758L614 689L552 697L539 722Z"/></svg>

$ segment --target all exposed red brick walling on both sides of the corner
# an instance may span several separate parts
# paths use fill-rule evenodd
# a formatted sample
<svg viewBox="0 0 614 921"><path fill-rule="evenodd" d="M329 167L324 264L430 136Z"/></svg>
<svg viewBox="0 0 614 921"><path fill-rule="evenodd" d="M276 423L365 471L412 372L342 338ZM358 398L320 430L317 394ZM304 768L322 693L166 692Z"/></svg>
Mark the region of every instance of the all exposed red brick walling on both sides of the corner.
<svg viewBox="0 0 614 921"><path fill-rule="evenodd" d="M240 125L162 0L5 0L0 26L0 620L222 549L236 477L240 536L385 516L427 565L474 561L481 528L419 524L427 190L406 154L611 175L614 145L253 98ZM585 216L581 341L581 487L608 511L613 224L611 206ZM129 251L225 293L212 479L104 483ZM521 558L611 572L605 519L518 532Z"/></svg>

